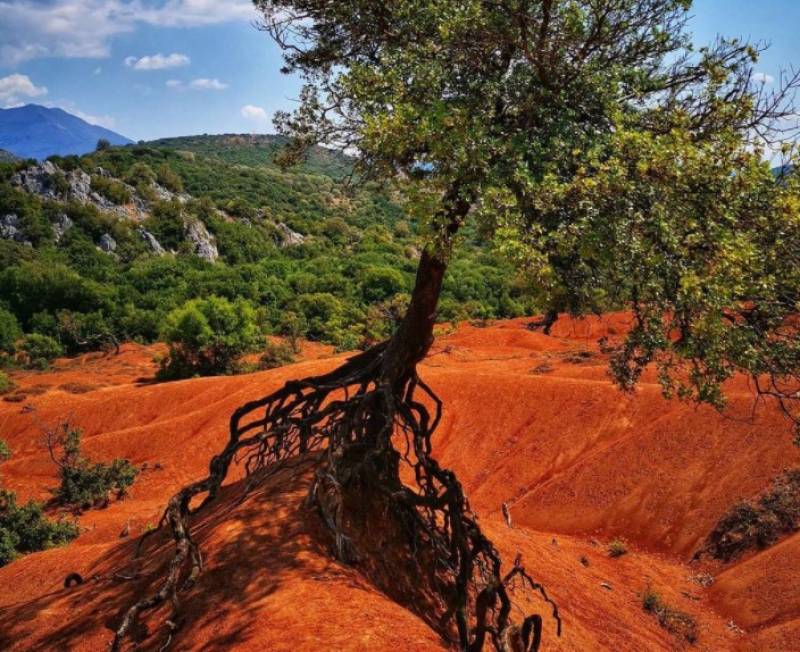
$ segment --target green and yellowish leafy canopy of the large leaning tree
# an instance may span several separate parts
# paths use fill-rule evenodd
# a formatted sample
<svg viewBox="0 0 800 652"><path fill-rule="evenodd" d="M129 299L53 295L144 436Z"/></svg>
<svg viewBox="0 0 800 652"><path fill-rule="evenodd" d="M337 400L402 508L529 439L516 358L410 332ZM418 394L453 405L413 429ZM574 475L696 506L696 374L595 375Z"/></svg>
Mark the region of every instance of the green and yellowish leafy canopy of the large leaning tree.
<svg viewBox="0 0 800 652"><path fill-rule="evenodd" d="M800 187L766 159L798 78L770 92L761 46L695 47L691 4L256 2L308 82L277 119L296 153L357 152L443 257L477 222L554 311L632 307L622 387L655 363L668 395L721 406L743 371L791 411Z"/></svg>

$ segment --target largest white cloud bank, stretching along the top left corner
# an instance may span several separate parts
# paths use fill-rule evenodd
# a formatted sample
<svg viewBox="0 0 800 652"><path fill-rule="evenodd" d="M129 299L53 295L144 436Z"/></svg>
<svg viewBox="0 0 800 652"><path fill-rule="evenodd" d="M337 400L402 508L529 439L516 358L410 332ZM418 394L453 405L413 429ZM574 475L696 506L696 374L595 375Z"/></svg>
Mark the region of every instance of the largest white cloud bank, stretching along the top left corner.
<svg viewBox="0 0 800 652"><path fill-rule="evenodd" d="M0 0L0 65L103 58L141 25L198 27L255 17L251 0Z"/></svg>

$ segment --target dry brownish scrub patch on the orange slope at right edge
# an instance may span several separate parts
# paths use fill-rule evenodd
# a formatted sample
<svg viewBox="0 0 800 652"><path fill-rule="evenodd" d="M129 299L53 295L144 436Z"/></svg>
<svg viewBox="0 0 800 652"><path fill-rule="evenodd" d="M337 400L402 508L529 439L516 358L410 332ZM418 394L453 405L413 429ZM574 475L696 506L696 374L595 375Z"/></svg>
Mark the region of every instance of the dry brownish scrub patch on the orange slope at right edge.
<svg viewBox="0 0 800 652"><path fill-rule="evenodd" d="M764 549L800 527L800 469L773 480L769 490L742 501L722 517L695 555L731 561L747 550Z"/></svg>

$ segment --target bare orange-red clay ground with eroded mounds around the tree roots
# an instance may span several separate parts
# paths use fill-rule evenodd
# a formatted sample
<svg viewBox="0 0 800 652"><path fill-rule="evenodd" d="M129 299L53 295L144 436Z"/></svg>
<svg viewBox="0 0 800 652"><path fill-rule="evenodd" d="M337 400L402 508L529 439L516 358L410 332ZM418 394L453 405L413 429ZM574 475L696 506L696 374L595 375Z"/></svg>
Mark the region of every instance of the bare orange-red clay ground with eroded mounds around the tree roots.
<svg viewBox="0 0 800 652"><path fill-rule="evenodd" d="M514 320L440 337L421 373L445 404L441 462L459 474L507 563L520 553L558 603L560 638L547 605L527 605L545 616L542 649L800 649L800 533L728 564L691 561L731 506L800 465L788 423L768 405L753 414L744 379L731 383L725 415L665 401L652 377L621 393L597 340L624 331L627 319L562 318L550 336ZM80 517L70 545L0 569L0 649L107 649L170 550L153 537L135 563L139 535L176 489L205 475L231 412L344 357L316 347L290 367L154 384L143 379L157 351L125 345L117 356L18 374L20 389L0 402L0 436L13 452L3 482L21 498L44 499L56 484L43 423L69 418L91 458L125 457L143 469L128 498ZM303 508L307 482L302 468L284 471L242 500L234 477L198 517L206 570L183 595L171 649L445 649L358 566L332 560ZM627 554L610 556L613 540ZM85 581L65 589L73 572ZM647 612L651 592L663 608ZM162 609L144 619L142 649L163 643L155 634L167 617Z"/></svg>

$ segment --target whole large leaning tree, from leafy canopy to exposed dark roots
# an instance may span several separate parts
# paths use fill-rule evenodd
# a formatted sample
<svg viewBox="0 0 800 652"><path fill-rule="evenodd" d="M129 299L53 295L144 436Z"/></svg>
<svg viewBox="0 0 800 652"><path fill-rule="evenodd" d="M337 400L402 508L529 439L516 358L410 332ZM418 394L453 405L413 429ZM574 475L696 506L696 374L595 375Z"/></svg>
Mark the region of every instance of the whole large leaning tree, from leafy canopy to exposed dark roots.
<svg viewBox="0 0 800 652"><path fill-rule="evenodd" d="M468 221L494 234L550 315L630 306L612 363L621 387L653 364L667 395L721 405L723 382L744 372L792 414L800 181L775 178L763 147L787 135L798 79L771 94L753 82L759 48L693 49L690 0L256 5L284 69L308 82L299 109L276 119L292 137L284 159L319 142L358 151L357 174L394 186L428 244L387 342L234 413L209 475L167 506L170 575L127 612L115 644L141 611L175 601L181 569L200 572L188 505L214 499L234 456L254 471L321 449L310 500L340 559L357 553L342 515L359 500L414 542L430 571L419 577L435 576L420 611L445 638L538 649L542 619L512 617L509 585L541 587L520 560L502 569L432 454L441 403L416 367L457 235Z"/></svg>

